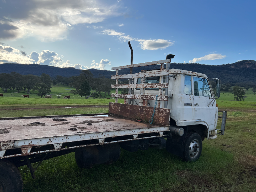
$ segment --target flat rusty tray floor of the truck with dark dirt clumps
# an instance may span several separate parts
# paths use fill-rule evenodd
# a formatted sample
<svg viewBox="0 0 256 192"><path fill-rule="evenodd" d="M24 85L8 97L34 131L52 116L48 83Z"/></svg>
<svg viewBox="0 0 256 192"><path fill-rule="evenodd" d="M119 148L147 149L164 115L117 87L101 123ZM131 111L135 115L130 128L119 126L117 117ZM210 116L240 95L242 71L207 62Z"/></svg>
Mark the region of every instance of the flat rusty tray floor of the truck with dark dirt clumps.
<svg viewBox="0 0 256 192"><path fill-rule="evenodd" d="M89 124L88 124L89 123ZM91 125L90 125L91 124ZM71 116L0 121L0 142L67 136L81 133L155 127L117 116ZM8 132L8 133L7 133ZM2 134L1 134L2 133Z"/></svg>

